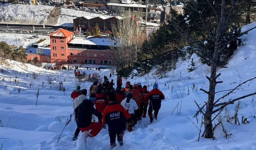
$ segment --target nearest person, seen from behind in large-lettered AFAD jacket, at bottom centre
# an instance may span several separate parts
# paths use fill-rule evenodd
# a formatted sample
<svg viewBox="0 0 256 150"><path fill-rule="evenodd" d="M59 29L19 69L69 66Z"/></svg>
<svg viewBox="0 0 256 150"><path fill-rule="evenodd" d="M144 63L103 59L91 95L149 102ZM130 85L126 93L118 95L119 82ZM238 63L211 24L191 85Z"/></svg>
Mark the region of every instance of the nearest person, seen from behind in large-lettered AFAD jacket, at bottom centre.
<svg viewBox="0 0 256 150"><path fill-rule="evenodd" d="M108 124L108 134L110 137L110 147L114 148L116 146L116 135L117 140L122 146L123 143L123 135L124 130L126 129L126 121L131 116L125 108L116 102L116 94L115 92L109 93L109 102L108 106L106 106L102 118L103 123Z"/></svg>

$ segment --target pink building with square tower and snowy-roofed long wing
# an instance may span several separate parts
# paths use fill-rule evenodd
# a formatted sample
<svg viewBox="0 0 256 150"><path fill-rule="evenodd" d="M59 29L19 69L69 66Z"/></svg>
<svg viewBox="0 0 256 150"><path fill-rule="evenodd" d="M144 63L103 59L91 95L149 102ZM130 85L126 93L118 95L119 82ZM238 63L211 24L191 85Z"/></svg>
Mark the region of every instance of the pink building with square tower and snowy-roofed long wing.
<svg viewBox="0 0 256 150"><path fill-rule="evenodd" d="M100 64L112 65L114 52L108 36L88 36L73 38L73 32L62 28L49 34L50 62L61 64ZM43 62L43 61L41 61Z"/></svg>

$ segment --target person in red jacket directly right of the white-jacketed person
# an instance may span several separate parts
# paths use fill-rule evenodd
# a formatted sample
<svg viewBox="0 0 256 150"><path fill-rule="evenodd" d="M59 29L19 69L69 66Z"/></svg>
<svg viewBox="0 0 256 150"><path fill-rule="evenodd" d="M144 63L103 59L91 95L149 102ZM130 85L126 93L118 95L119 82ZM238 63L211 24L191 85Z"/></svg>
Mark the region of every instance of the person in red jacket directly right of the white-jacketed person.
<svg viewBox="0 0 256 150"><path fill-rule="evenodd" d="M138 120L141 120L141 117L140 117L140 104L142 102L142 94L138 90L138 85L137 84L133 85L132 99L134 99L136 104L138 105L138 110L135 110L135 112L134 112L134 123L133 123L133 126L134 126L135 124L137 124Z"/></svg>

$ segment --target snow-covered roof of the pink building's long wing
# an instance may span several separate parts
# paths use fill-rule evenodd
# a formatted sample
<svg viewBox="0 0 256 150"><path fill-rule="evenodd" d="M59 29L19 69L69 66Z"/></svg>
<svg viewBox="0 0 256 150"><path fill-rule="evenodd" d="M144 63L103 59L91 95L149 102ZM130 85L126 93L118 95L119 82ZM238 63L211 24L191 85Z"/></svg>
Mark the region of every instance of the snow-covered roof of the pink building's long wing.
<svg viewBox="0 0 256 150"><path fill-rule="evenodd" d="M74 38L69 44L113 46L114 40L108 36L87 36L86 38Z"/></svg>

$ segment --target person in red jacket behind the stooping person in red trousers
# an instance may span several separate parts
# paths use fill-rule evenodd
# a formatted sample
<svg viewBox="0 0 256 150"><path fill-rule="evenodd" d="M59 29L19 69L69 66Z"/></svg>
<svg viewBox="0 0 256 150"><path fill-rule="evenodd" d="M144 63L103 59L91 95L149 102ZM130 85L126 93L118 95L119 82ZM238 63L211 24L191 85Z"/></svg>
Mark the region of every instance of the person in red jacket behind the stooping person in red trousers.
<svg viewBox="0 0 256 150"><path fill-rule="evenodd" d="M98 112L100 112L101 114L103 113L104 109L106 108L106 106L108 105L108 101L106 96L101 92L100 89L97 90L96 92L96 101L95 103L95 107L98 110ZM102 118L98 118L98 121L100 124L102 124ZM102 124L102 127L105 128L105 125Z"/></svg>

